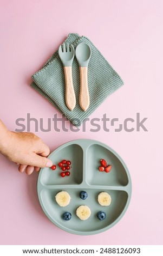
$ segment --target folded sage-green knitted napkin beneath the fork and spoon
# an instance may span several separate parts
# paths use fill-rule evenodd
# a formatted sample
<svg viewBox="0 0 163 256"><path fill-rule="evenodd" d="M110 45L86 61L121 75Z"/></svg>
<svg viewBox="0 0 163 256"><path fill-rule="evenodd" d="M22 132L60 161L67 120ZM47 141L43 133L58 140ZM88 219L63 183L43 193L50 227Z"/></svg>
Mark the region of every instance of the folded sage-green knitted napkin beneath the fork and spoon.
<svg viewBox="0 0 163 256"><path fill-rule="evenodd" d="M73 111L70 111L66 106L64 70L58 51L51 56L40 71L32 75L34 82L32 82L31 87L47 98L71 123L80 126L83 120L88 118L108 95L123 85L123 81L86 36L69 34L65 42L73 44L74 48L80 42L86 42L92 49L92 56L88 65L90 106L87 111L82 111L79 105L80 70L76 58L73 61L73 84L76 95L76 106Z"/></svg>

